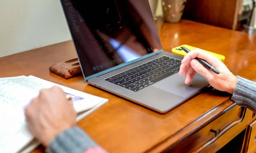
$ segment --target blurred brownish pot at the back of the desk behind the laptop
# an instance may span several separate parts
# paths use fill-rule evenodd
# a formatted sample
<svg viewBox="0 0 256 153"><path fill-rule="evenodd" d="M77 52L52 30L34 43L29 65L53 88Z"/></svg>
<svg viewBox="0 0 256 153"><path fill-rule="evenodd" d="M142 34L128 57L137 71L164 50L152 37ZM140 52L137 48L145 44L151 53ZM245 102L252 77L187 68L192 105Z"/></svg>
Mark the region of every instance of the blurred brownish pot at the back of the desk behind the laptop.
<svg viewBox="0 0 256 153"><path fill-rule="evenodd" d="M180 22L185 3L186 0L162 0L164 20L169 23Z"/></svg>

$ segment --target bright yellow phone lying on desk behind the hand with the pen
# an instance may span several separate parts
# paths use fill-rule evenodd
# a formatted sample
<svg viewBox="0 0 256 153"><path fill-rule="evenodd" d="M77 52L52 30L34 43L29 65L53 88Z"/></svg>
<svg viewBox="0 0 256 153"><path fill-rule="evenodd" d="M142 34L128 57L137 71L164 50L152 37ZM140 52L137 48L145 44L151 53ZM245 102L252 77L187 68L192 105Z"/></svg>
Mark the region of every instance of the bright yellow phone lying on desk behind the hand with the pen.
<svg viewBox="0 0 256 153"><path fill-rule="evenodd" d="M197 47L193 47L193 46L190 46L190 45L180 45L178 47L175 47L175 48L172 48L172 53L173 54L177 54L177 55L180 55L180 56L185 56L186 52L183 51L180 47L186 47L188 48L190 51L194 50L195 48ZM203 50L203 49L202 49ZM206 51L206 50L203 50L203 51ZM210 51L206 51L208 52L209 54L212 54L212 55L215 55L216 57L218 57L218 59L220 59L221 61L223 61L225 59L225 57L221 54L217 54L217 53L213 53L213 52L210 52Z"/></svg>

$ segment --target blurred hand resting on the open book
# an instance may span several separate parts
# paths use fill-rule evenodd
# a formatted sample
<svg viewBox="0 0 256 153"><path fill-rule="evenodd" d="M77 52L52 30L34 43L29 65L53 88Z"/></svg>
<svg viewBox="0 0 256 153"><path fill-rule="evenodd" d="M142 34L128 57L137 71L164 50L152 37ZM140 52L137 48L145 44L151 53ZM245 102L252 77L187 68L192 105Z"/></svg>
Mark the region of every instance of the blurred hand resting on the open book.
<svg viewBox="0 0 256 153"><path fill-rule="evenodd" d="M77 113L64 91L52 87L40 91L26 107L25 116L30 132L47 147L58 133L76 126Z"/></svg>

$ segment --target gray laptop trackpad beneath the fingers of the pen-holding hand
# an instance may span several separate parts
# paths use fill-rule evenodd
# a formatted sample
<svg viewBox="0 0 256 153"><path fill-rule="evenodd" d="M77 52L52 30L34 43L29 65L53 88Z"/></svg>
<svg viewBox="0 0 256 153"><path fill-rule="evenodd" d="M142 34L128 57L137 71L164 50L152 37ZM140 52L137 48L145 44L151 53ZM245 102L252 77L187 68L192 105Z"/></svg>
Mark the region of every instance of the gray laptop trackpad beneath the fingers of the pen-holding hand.
<svg viewBox="0 0 256 153"><path fill-rule="evenodd" d="M181 97L186 97L190 96L191 94L197 93L200 89L206 87L207 85L209 85L207 79L205 79L200 74L196 74L194 81L189 85L185 84L184 75L180 76L178 74L175 74L172 77L155 83L153 86L163 91L167 91Z"/></svg>

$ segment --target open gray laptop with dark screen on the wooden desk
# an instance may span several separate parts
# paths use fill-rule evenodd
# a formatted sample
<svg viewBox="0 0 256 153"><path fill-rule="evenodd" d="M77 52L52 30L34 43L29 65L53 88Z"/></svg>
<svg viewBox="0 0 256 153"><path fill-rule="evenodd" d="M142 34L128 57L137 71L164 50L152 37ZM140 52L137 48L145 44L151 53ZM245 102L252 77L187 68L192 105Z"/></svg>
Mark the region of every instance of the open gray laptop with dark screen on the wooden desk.
<svg viewBox="0 0 256 153"><path fill-rule="evenodd" d="M179 76L183 57L163 51L148 0L61 0L84 79L166 113L206 88ZM171 37L171 36L170 36Z"/></svg>

